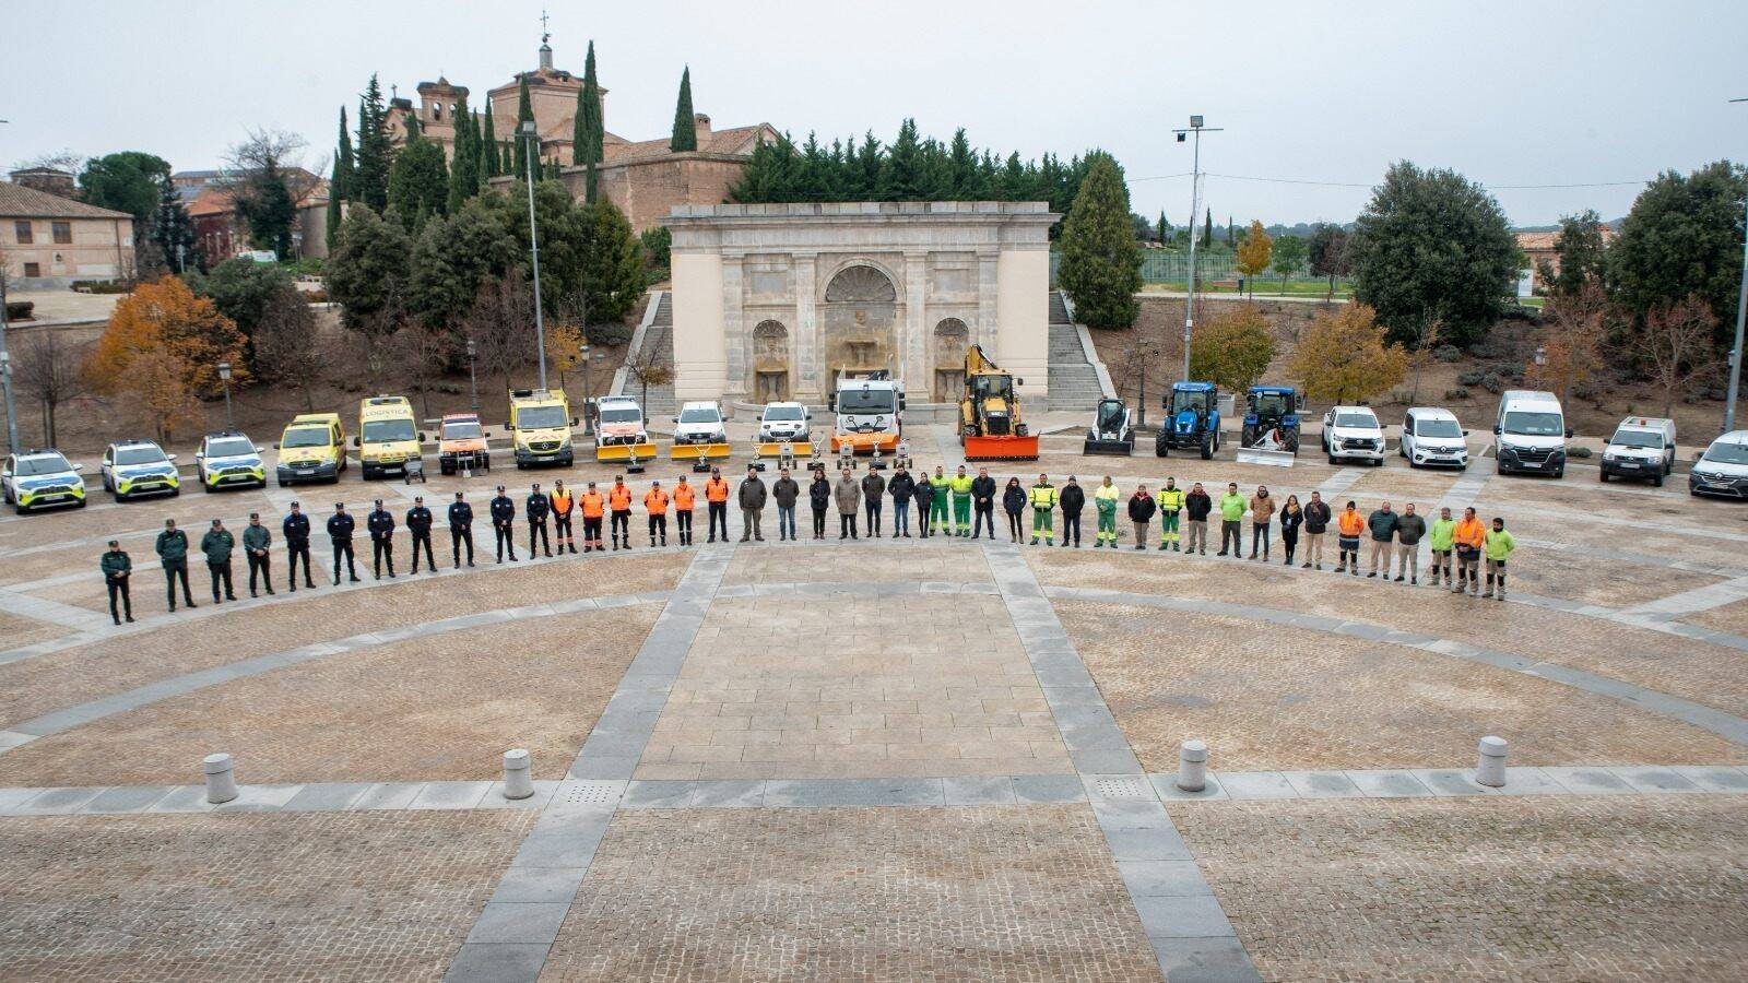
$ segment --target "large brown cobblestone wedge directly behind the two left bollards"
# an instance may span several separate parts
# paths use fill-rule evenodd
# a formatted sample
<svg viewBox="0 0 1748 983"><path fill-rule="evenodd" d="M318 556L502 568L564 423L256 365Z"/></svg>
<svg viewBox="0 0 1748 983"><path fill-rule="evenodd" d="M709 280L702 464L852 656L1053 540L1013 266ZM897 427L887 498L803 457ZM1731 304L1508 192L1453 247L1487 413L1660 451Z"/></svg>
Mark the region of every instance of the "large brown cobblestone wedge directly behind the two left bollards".
<svg viewBox="0 0 1748 983"><path fill-rule="evenodd" d="M498 778L526 747L561 778L659 605L488 624L213 686L0 756L9 785Z"/></svg>

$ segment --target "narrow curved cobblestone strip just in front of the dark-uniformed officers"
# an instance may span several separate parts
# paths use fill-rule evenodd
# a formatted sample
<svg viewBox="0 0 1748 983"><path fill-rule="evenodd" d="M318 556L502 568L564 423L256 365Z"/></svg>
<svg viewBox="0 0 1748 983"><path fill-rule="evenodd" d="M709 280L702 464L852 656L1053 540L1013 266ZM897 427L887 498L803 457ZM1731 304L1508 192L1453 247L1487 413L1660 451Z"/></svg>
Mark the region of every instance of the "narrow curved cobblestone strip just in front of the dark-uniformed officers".
<svg viewBox="0 0 1748 983"><path fill-rule="evenodd" d="M364 567L367 553L369 546ZM281 584L278 603L0 665L0 728L161 679L362 631L545 600L669 589L689 561L678 553L589 558L344 593L318 581L313 593L288 595ZM135 575L133 596L136 616L163 610L163 574ZM206 598L196 595L196 603Z"/></svg>

